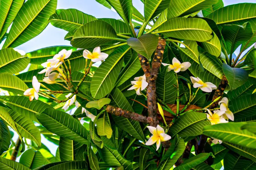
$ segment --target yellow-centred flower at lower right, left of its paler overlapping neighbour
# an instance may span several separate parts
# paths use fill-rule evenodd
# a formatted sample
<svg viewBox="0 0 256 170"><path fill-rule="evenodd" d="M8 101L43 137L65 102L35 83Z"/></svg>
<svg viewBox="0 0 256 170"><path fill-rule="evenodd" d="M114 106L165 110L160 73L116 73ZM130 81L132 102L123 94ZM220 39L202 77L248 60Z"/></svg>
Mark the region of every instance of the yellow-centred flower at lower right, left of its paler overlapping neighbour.
<svg viewBox="0 0 256 170"><path fill-rule="evenodd" d="M220 123L228 123L227 120L222 116L225 111L213 110L213 114L211 110L206 109L208 113L206 113L207 119L211 122L211 124L220 124Z"/></svg>

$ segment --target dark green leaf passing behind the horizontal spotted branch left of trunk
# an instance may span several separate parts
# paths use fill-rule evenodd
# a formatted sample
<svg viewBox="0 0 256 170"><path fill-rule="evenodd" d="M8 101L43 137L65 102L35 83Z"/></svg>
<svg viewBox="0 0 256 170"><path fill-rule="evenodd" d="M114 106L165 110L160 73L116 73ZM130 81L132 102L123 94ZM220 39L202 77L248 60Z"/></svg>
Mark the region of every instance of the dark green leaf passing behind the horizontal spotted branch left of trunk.
<svg viewBox="0 0 256 170"><path fill-rule="evenodd" d="M113 89L110 94L114 100L114 103L119 108L122 108L124 110L133 111L132 106L127 101L127 99L124 97L124 94L117 88ZM143 134L143 131L140 127L140 123L135 120L127 119L120 116L113 116L116 124L122 128L124 131L132 135L134 138L144 141L145 137Z"/></svg>

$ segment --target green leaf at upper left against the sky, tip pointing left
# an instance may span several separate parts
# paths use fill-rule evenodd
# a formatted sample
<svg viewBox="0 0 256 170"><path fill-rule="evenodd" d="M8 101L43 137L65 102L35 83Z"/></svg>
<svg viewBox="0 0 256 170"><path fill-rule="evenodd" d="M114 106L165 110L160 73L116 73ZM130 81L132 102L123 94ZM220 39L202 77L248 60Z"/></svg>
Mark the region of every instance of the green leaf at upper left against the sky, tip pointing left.
<svg viewBox="0 0 256 170"><path fill-rule="evenodd" d="M68 32L74 32L82 25L94 20L97 18L76 9L56 10L49 18L53 26Z"/></svg>

